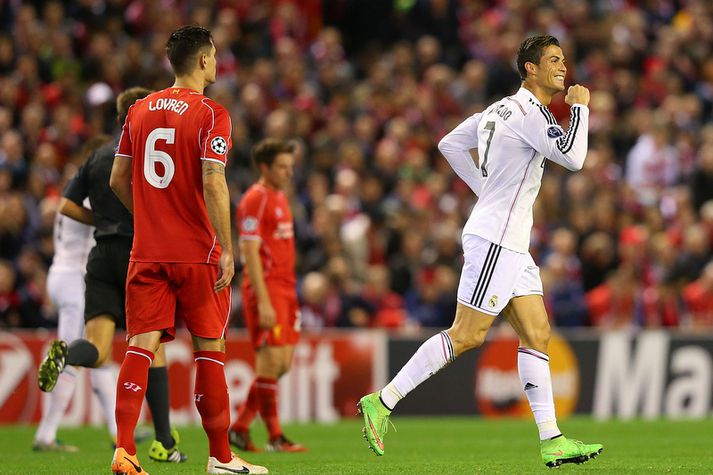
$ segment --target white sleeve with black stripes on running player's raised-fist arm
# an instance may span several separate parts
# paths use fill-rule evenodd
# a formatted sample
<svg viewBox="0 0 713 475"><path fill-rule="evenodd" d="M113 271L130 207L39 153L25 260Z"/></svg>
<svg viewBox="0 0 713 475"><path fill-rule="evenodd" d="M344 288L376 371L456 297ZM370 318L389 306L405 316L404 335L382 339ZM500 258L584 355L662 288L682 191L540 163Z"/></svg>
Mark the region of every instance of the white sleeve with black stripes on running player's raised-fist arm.
<svg viewBox="0 0 713 475"><path fill-rule="evenodd" d="M589 108L575 104L570 109L569 129L565 133L547 107L537 104L524 118L519 131L522 138L539 154L568 170L581 170L587 156Z"/></svg>

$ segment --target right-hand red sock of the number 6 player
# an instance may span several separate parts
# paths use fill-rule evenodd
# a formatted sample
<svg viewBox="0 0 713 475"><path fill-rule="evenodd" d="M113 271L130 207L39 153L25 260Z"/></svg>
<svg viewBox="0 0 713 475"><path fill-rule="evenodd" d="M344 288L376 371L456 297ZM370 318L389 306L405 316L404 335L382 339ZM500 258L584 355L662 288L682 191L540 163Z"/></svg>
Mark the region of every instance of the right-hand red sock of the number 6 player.
<svg viewBox="0 0 713 475"><path fill-rule="evenodd" d="M225 353L196 351L196 408L201 415L203 430L208 436L211 457L227 463L232 459L228 444L230 400L225 382Z"/></svg>

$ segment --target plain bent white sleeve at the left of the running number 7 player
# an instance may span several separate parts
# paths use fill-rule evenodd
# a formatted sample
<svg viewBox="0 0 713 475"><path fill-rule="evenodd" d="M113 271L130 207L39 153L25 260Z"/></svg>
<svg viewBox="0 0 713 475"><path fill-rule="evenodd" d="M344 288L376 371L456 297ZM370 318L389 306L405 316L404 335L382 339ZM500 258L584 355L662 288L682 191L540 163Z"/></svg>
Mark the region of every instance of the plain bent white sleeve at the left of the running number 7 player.
<svg viewBox="0 0 713 475"><path fill-rule="evenodd" d="M438 143L438 150L453 171L476 196L480 195L482 175L470 151L478 148L478 124L482 115L477 113L468 117Z"/></svg>

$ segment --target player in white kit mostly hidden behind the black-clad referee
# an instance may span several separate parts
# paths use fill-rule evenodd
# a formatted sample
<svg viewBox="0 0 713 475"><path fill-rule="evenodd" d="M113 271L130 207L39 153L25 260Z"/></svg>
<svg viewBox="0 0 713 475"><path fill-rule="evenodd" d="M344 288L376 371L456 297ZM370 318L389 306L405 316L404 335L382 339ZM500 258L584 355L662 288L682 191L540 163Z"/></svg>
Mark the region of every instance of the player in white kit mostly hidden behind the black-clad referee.
<svg viewBox="0 0 713 475"><path fill-rule="evenodd" d="M108 139L108 137L107 137ZM86 200L89 206L89 200ZM63 216L54 221L54 257L47 274L47 292L57 308L58 338L71 342L84 334L84 274L87 256L94 246L93 228ZM92 390L112 439L116 439L114 406L116 375L106 364L89 370ZM74 393L79 368L68 367L59 376L54 392L42 394L42 419L32 445L35 451L76 452L77 447L57 441L57 428Z"/></svg>

